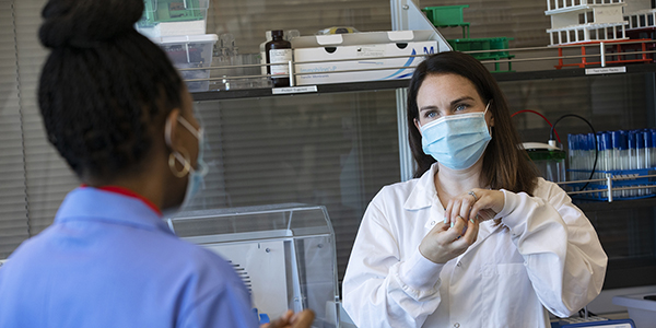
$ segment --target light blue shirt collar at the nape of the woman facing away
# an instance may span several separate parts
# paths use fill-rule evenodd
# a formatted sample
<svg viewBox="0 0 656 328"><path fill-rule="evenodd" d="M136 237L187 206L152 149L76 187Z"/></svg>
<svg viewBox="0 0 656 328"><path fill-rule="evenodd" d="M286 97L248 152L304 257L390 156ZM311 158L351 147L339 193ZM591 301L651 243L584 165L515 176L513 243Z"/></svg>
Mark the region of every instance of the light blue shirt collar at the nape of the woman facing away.
<svg viewBox="0 0 656 328"><path fill-rule="evenodd" d="M71 221L104 221L173 234L140 199L91 187L75 188L59 207L55 222Z"/></svg>

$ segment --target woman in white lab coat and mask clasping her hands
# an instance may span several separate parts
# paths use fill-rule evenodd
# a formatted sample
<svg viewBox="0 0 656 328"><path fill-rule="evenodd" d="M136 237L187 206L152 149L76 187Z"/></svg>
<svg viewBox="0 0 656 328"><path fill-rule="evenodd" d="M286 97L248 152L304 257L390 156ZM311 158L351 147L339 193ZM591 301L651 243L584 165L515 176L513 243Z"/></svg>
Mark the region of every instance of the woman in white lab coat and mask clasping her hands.
<svg viewBox="0 0 656 328"><path fill-rule="evenodd" d="M374 197L342 284L359 327L550 327L599 294L594 227L538 176L478 60L423 61L408 126L415 178Z"/></svg>

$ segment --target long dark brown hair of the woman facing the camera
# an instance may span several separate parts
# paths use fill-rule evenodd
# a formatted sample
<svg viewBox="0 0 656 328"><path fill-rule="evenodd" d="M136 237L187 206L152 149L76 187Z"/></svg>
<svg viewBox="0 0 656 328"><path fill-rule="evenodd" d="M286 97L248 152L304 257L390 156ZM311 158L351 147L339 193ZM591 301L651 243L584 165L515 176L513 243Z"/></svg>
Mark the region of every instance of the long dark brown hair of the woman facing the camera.
<svg viewBox="0 0 656 328"><path fill-rule="evenodd" d="M412 156L417 162L414 177L420 177L431 168L435 159L426 155L421 147L421 133L414 126L419 120L417 94L427 75L458 74L476 86L483 103L491 102L490 112L494 117L492 140L483 155L483 183L492 189L506 189L514 192L532 194L538 178L536 166L529 161L520 145L520 139L511 119L508 105L499 84L485 67L476 58L458 52L446 51L432 55L415 69L408 89L408 137Z"/></svg>

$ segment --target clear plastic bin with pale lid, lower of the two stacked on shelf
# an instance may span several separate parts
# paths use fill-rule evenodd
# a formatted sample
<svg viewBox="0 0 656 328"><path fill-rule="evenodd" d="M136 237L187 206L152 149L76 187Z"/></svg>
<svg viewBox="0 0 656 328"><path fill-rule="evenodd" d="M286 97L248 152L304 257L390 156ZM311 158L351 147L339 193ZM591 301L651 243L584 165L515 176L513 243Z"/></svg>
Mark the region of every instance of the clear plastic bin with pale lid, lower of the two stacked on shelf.
<svg viewBox="0 0 656 328"><path fill-rule="evenodd" d="M212 50L219 39L216 34L163 36L151 38L160 45L178 69L203 68L212 65ZM184 80L209 79L210 70L180 71ZM187 81L190 92L208 91L209 81Z"/></svg>

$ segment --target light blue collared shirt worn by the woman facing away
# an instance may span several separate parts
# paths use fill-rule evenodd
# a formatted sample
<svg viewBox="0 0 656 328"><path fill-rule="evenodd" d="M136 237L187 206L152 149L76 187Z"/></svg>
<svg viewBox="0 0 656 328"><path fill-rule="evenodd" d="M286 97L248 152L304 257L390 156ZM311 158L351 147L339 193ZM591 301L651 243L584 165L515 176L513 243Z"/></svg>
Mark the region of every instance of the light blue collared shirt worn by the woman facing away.
<svg viewBox="0 0 656 328"><path fill-rule="evenodd" d="M78 188L0 269L0 327L258 327L218 255L142 200Z"/></svg>

